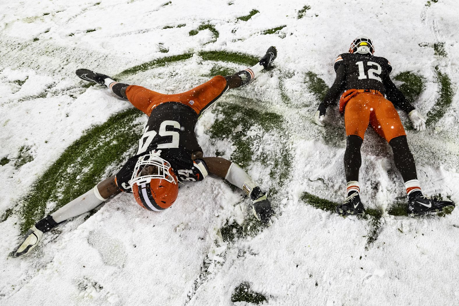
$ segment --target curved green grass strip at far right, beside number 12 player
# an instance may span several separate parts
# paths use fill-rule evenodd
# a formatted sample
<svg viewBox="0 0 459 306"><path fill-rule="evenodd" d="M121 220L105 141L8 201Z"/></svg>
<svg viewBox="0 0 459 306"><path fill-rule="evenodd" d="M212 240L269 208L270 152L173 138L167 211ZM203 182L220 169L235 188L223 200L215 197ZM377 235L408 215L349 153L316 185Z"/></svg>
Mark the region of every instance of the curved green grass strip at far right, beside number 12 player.
<svg viewBox="0 0 459 306"><path fill-rule="evenodd" d="M440 97L427 113L426 125L436 124L445 115L445 112L448 111L451 103L453 103L454 91L451 87L451 79L446 73L442 73L438 67L435 67L435 69L437 71L438 83L440 83Z"/></svg>

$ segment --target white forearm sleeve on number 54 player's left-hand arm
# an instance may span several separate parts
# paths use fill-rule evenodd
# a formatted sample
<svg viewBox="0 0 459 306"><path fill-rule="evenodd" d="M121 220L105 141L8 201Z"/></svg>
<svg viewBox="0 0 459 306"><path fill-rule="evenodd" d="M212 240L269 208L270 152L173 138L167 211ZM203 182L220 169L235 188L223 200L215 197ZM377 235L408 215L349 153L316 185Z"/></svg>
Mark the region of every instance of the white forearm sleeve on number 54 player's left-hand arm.
<svg viewBox="0 0 459 306"><path fill-rule="evenodd" d="M79 216L94 209L105 200L106 199L99 193L97 185L95 185L93 189L89 190L84 195L80 195L75 200L68 202L66 205L53 212L51 217L53 217L56 223L61 223L69 218Z"/></svg>

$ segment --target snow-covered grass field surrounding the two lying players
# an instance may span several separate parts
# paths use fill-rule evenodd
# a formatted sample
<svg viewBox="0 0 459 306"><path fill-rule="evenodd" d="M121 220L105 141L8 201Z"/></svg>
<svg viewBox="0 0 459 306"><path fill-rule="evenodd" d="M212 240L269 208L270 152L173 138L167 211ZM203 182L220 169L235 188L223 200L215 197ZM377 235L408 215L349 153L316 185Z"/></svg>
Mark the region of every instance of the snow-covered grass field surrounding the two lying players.
<svg viewBox="0 0 459 306"><path fill-rule="evenodd" d="M313 123L336 56L368 35L393 76L421 80L414 106L429 117L427 130L400 117L425 194L458 203L458 13L456 0L1 2L0 305L459 305L459 210L389 214L404 201L403 182L389 145L372 131L360 184L379 215L342 218L317 208L321 199L343 199L345 134L337 110L328 111L326 128ZM92 173L97 149L47 172L69 146L119 112L133 123L102 131L94 148L115 143L117 132L135 139L146 122L107 89L84 86L77 68L178 93L214 72L242 70L270 45L276 67L229 91L196 127L205 156L241 161L270 190L277 216L269 228L251 231L248 200L209 177L182 186L162 213L115 196L45 234L31 256L7 258L27 218L60 206L66 190L87 190L79 172ZM166 65L152 62L162 58ZM232 134L222 135L222 125ZM104 164L92 186L118 162ZM44 192L35 184L44 175L59 183L54 200L35 211L24 197Z"/></svg>

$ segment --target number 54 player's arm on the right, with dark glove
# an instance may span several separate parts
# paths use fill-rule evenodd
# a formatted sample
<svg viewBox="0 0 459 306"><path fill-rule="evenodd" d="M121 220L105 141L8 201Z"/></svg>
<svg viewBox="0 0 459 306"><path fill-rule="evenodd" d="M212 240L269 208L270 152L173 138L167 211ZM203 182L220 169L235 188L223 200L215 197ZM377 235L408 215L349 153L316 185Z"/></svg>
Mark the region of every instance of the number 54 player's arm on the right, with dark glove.
<svg viewBox="0 0 459 306"><path fill-rule="evenodd" d="M269 222L273 215L271 203L257 183L241 167L221 157L204 157L202 160L206 163L210 173L225 178L250 197L253 214L259 221L265 224Z"/></svg>

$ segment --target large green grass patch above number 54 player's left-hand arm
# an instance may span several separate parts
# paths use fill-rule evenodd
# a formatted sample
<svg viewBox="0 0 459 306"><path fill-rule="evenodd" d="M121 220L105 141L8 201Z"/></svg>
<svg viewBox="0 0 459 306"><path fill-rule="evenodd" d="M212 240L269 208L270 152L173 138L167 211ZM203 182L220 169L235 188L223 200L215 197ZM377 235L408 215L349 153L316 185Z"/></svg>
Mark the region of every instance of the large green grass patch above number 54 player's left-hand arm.
<svg viewBox="0 0 459 306"><path fill-rule="evenodd" d="M70 145L22 199L22 233L45 216L47 203L64 206L99 183L108 166L121 164L142 134L141 114L134 108L115 114Z"/></svg>

